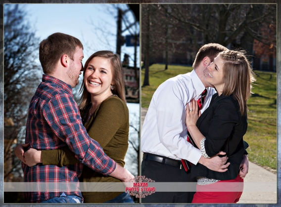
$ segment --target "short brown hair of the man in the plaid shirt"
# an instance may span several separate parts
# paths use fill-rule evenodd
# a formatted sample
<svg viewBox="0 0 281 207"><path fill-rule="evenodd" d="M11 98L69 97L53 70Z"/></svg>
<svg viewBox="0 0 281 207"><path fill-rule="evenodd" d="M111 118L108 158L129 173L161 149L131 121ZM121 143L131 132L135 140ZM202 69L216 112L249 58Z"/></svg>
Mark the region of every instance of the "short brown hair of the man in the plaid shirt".
<svg viewBox="0 0 281 207"><path fill-rule="evenodd" d="M62 55L67 54L71 59L76 47L83 48L80 40L63 33L54 33L41 41L39 46L39 60L45 74L53 73L57 61Z"/></svg>

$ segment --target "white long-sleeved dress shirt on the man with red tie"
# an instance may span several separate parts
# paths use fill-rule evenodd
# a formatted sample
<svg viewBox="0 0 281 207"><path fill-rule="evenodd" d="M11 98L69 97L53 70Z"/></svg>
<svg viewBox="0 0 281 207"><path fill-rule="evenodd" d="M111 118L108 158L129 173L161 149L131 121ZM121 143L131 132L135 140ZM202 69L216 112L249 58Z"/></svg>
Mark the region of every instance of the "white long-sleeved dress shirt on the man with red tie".
<svg viewBox="0 0 281 207"><path fill-rule="evenodd" d="M187 103L205 89L194 70L168 79L154 92L141 129L141 151L196 165L201 151L187 142ZM201 113L209 106L214 88L207 88Z"/></svg>

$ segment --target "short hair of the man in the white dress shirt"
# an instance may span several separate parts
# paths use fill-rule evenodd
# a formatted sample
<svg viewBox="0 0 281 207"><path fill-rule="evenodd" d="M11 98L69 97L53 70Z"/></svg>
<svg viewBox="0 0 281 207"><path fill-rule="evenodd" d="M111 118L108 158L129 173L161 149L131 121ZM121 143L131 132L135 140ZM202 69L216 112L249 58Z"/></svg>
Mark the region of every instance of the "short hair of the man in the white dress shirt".
<svg viewBox="0 0 281 207"><path fill-rule="evenodd" d="M218 53L227 49L228 48L218 43L209 43L201 46L193 62L193 69L196 69L200 65L200 62L204 59L204 57L209 57L211 62L213 62Z"/></svg>

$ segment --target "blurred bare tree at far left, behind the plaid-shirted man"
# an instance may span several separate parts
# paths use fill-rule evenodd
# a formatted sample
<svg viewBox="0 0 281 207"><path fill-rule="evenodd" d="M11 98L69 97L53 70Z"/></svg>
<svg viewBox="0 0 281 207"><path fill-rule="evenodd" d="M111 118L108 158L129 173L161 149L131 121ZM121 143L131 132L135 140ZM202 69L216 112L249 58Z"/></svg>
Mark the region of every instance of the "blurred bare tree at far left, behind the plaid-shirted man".
<svg viewBox="0 0 281 207"><path fill-rule="evenodd" d="M24 142L28 105L40 83L39 39L25 16L26 12L17 4L4 7L4 119L10 120L5 122L7 131L7 127L13 127L13 136L5 137L10 141L4 162L11 159L7 150L11 144ZM4 177L17 170L4 170Z"/></svg>

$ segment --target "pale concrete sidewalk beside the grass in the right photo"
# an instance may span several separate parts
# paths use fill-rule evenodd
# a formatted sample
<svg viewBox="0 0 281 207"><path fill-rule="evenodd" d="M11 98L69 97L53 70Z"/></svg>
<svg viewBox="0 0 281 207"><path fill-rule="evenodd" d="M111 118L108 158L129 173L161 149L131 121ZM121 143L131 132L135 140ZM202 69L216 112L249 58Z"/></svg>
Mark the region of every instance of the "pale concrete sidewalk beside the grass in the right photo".
<svg viewBox="0 0 281 207"><path fill-rule="evenodd" d="M141 127L143 124L143 120L145 118L147 112L147 108L141 108ZM142 154L142 153L141 153ZM253 183L257 185L258 183L261 186L264 183L271 184L270 189L274 189L273 191L262 192L258 190L252 190L246 188L249 184ZM276 204L277 203L277 174L274 174L260 166L257 166L251 162L249 162L249 172L244 179L244 192L239 200L239 204ZM276 188L275 188L276 187ZM276 189L276 190L275 190ZM267 190L264 190L267 191Z"/></svg>

